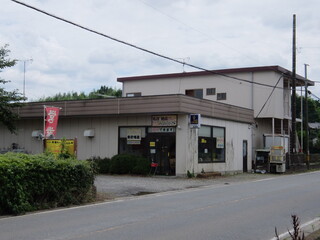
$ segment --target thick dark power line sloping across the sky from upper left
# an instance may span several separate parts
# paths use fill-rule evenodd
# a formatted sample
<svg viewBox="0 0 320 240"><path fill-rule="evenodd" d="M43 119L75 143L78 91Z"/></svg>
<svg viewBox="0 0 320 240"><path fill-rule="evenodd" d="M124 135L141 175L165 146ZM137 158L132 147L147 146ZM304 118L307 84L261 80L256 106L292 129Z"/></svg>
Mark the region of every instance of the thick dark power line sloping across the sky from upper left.
<svg viewBox="0 0 320 240"><path fill-rule="evenodd" d="M182 62L182 61L179 61L179 60L177 60L177 59L174 59L174 58L171 58L171 57L168 57L168 56L165 56L165 55L162 55L162 54L153 52L153 51L151 51L151 50L148 50L148 49L145 49L145 48L136 46L136 45L134 45L134 44L125 42L125 41L123 41L123 40L120 40L120 39L111 37L111 36L109 36L109 35L107 35L107 34L98 32L98 31L93 30L93 29L90 29L90 28L88 28L88 27L84 27L84 26L79 25L79 24L77 24L77 23L74 23L74 22L72 22L72 21L70 21L70 20L64 19L64 18L62 18L62 17L58 17L58 16L56 16L56 15L54 15L54 14L48 13L48 12L46 12L46 11L44 11L44 10L41 10L41 9L39 9L39 8L36 8L36 7L33 7L33 6L28 5L28 4L26 4L26 3L23 3L23 2L20 2L20 1L17 1L17 0L11 0L11 1L12 1L12 2L15 2L15 3L18 3L18 4L20 4L20 5L23 5L23 6L27 7L27 8L33 9L33 10L35 10L35 11L37 11L37 12L43 13L43 14L45 14L45 15L47 15L47 16L52 17L52 18L58 19L58 20L60 20L60 21L62 21L62 22L69 23L69 24L71 24L71 25L73 25L73 26L76 26L76 27L81 28L81 29L83 29L83 30L86 30L86 31L88 31L88 32L91 32L91 33L100 35L100 36L105 37L105 38L108 38L108 39L110 39L110 40L112 40L112 41L115 41L115 42L118 42L118 43L127 45L127 46L129 46L129 47L138 49L138 50L140 50L140 51L149 53L149 54L151 54L151 55L154 55L154 56L157 56L157 57L160 57L160 58L164 58L164 59L167 59L167 60L172 61L172 62L175 62L175 63L182 64L182 65L184 65L184 66L189 66L189 67L194 68L194 69L198 69L198 70L205 71L205 72L208 72L208 73L220 75L220 76L223 76L223 77L226 77L226 78L230 78L230 79L234 79L234 80L241 81L241 82L247 82L247 83L250 83L250 84L256 84L256 85L260 85L260 86L264 86L264 87L272 87L272 88L275 87L275 86L273 86L273 85L269 85L269 84L265 84L265 83L252 82L252 81L247 80L247 79L241 79L241 78L238 78L238 77L229 76L229 75L227 75L227 74L219 73L219 72L217 72L217 71L208 70L208 69L205 69L205 68L202 68L202 67L198 67L198 66L193 65L193 64L189 64L189 63L186 63L186 62ZM276 87L276 88L283 89L283 88L281 88L281 87Z"/></svg>

